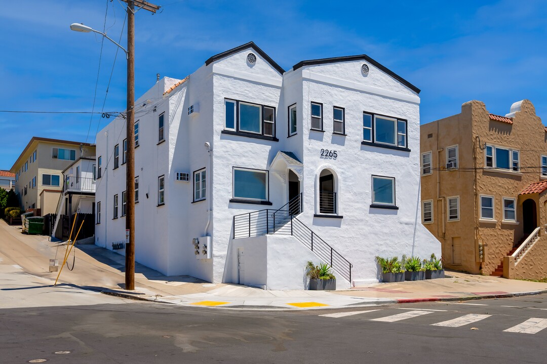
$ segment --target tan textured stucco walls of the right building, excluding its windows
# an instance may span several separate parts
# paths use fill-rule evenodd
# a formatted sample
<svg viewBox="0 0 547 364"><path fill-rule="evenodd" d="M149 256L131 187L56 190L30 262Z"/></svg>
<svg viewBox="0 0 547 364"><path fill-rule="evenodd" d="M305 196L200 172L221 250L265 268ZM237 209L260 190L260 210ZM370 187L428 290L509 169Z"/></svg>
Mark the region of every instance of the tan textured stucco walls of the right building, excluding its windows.
<svg viewBox="0 0 547 364"><path fill-rule="evenodd" d="M546 223L545 192L520 195L530 183L544 178L540 168L541 156L547 155L544 126L528 100L513 104L506 117L511 118L510 122L494 120L485 104L474 100L462 105L461 114L421 128L421 152L432 151L433 157L432 174L422 176L422 200L437 202L434 222L426 226L441 241L447 267L490 275L501 264L503 256L528 236L530 226L535 228ZM496 168L495 164L493 168L487 167L485 144L519 151L519 170ZM446 148L453 145L458 145L458 168L446 170ZM481 217L481 195L493 196L492 219ZM447 219L446 198L450 196L459 196L459 221ZM515 199L515 220L504 218L503 198ZM534 206L526 207L523 212L523 202L527 199L532 199ZM526 232L525 225L528 226ZM455 244L458 241L461 242L461 261L458 261ZM484 242L482 262L479 242ZM526 268L529 266L526 262L535 259L534 252L538 249L531 250L520 262L519 271L540 278ZM537 258L544 259L544 256L540 254ZM536 272L544 275L539 270Z"/></svg>

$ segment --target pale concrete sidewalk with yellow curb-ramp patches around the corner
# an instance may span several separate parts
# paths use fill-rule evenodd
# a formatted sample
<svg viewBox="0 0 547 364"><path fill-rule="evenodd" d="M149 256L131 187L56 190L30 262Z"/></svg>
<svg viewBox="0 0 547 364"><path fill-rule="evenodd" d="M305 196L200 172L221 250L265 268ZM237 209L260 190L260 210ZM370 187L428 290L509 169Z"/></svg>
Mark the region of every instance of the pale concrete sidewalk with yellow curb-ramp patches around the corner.
<svg viewBox="0 0 547 364"><path fill-rule="evenodd" d="M136 264L135 290L124 290L125 256L95 245L76 246L68 259L57 287L57 272L49 272L49 259L62 263L66 246L50 242L46 236L24 235L20 228L0 222L0 254L12 266L50 282L72 289L95 290L135 300L246 309L309 309L370 306L384 303L458 301L486 297L507 297L547 293L547 283L516 281L498 277L447 272L447 278L418 282L373 283L339 291L266 291L237 284L212 284L189 276L166 277ZM5 264L5 262L0 262ZM12 278L13 279L13 278Z"/></svg>

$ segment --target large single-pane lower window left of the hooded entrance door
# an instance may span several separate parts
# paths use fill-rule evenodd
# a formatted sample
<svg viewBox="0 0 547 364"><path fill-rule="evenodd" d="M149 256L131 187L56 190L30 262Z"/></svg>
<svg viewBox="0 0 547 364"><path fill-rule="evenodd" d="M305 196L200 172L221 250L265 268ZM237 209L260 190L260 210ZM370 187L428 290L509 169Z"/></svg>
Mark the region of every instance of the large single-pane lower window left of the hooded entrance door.
<svg viewBox="0 0 547 364"><path fill-rule="evenodd" d="M268 201L268 171L234 167L232 197L241 200Z"/></svg>

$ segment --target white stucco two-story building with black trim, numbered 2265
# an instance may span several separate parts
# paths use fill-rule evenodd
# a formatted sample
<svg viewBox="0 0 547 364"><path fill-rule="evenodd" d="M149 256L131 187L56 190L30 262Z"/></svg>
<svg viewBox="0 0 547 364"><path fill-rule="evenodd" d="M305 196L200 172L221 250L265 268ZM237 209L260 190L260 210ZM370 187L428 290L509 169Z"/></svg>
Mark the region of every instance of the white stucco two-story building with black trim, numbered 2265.
<svg viewBox="0 0 547 364"><path fill-rule="evenodd" d="M347 288L380 277L376 255L440 256L421 224L419 92L365 55L284 71L252 42L159 80L136 102L136 260L301 289L308 260ZM97 134L107 248L125 240L125 134L120 118Z"/></svg>

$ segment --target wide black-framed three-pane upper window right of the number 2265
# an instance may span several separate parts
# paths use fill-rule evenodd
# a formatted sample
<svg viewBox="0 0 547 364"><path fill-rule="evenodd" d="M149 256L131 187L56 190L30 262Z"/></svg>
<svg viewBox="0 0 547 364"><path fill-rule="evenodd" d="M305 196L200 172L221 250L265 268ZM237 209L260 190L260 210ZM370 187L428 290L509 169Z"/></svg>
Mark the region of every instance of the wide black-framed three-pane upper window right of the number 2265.
<svg viewBox="0 0 547 364"><path fill-rule="evenodd" d="M363 143L388 148L408 147L407 121L397 117L363 112Z"/></svg>

